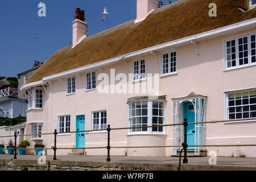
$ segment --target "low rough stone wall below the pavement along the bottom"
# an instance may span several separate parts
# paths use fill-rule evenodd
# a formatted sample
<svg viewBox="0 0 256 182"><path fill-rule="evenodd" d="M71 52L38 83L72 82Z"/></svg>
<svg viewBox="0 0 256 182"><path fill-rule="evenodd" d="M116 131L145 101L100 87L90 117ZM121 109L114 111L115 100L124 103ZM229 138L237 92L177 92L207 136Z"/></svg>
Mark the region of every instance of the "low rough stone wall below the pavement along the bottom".
<svg viewBox="0 0 256 182"><path fill-rule="evenodd" d="M177 171L178 164L0 159L1 171ZM181 164L181 171L256 171L256 166Z"/></svg>

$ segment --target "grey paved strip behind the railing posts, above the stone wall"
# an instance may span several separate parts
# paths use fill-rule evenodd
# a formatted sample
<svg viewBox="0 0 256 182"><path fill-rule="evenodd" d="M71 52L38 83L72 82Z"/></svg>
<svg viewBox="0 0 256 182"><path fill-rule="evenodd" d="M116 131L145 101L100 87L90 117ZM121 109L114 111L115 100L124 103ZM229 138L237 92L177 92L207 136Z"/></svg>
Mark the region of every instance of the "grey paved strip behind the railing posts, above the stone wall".
<svg viewBox="0 0 256 182"><path fill-rule="evenodd" d="M13 159L13 155L0 155L0 159ZM36 155L17 155L17 159L37 160L40 156ZM121 163L158 163L158 164L178 164L179 158L176 157L130 157L130 156L110 156L111 162ZM47 155L47 160L52 160L53 156ZM106 162L106 156L57 156L58 160L80 161L80 162ZM183 158L181 158L181 163ZM188 158L189 164L209 164L209 157ZM232 158L217 157L217 164L225 165L253 165L256 166L256 158Z"/></svg>

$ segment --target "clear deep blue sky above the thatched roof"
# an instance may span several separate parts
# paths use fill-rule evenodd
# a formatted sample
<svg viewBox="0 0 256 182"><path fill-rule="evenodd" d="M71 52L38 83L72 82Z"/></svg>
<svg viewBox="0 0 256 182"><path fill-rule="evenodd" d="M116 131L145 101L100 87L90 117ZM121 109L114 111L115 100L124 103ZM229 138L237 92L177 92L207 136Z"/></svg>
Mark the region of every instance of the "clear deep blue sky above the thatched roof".
<svg viewBox="0 0 256 182"><path fill-rule="evenodd" d="M0 76L16 77L32 68L34 60L45 62L58 49L69 46L76 7L85 10L89 36L135 19L137 11L136 0L44 0L46 17L39 17L39 2L0 2ZM104 6L109 15L102 22Z"/></svg>

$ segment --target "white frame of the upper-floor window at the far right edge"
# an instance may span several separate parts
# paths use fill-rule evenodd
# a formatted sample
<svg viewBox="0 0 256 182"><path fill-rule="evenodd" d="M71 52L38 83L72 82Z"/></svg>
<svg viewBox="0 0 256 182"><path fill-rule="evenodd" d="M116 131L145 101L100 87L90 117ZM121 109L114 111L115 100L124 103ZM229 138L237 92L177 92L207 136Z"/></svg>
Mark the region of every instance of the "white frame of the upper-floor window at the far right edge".
<svg viewBox="0 0 256 182"><path fill-rule="evenodd" d="M238 35L238 36L234 36L232 38L228 38L228 39L224 39L224 71L229 71L232 69L237 69L237 68L244 68L244 67L250 67L253 65L256 65L256 62L252 63L251 61L251 36L256 35L256 32L250 32L247 34L242 34L242 35ZM238 43L238 39L240 38L245 38L247 37L247 44L248 44L248 64L243 64L243 65L239 65L239 43ZM229 41L235 40L236 42L236 66L234 67L230 67L228 68L228 60L227 60L227 56L228 56L228 52L227 52L227 45L226 43Z"/></svg>

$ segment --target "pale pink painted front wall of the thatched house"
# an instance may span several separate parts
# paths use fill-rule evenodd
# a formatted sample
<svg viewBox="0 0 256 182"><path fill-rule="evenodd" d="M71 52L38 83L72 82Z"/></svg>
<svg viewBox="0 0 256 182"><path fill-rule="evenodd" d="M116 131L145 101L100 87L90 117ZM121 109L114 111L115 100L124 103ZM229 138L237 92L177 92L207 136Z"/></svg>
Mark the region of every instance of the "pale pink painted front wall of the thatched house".
<svg viewBox="0 0 256 182"><path fill-rule="evenodd" d="M223 40L245 32L255 31L256 28L230 34L218 38L203 40L199 42L199 56L193 44L177 47L177 74L159 77L159 95L166 95L166 124L172 123L172 98L185 97L191 92L207 96L207 116L217 120L225 119L224 115L224 92L229 90L240 90L256 88L256 67L246 67L224 71ZM171 51L171 49L170 49ZM146 73L160 73L160 64L152 54L144 55ZM117 73L131 73L131 61L129 70L125 64L119 63L102 68L102 73L110 75L110 69L115 68ZM88 71L92 72L94 70ZM96 71L96 76L100 72ZM72 77L75 75L71 75ZM76 93L66 95L66 78L62 81L51 82L49 95L44 100L43 109L43 133L53 132L57 129L57 118L59 115L71 114L71 131L76 129L76 115L85 114L85 130L91 129L92 111L106 110L107 122L112 128L127 127L127 98L143 96L145 94L99 94L97 90L85 92L85 73L79 73L76 77ZM99 81L96 81L96 85ZM43 90L43 94L46 93ZM33 119L33 114L28 114L28 121ZM255 144L256 122L241 123L216 123L207 124L207 144ZM27 132L31 132L27 130ZM172 145L172 127L167 127L163 135L127 135L127 130L111 131L111 146L141 146L143 145ZM86 133L86 147L106 146L107 133ZM53 135L46 135L43 143L47 147L53 146ZM57 136L57 147L75 147L75 134ZM229 148L207 148L217 151L220 156L232 156L237 152L236 147ZM112 148L111 155L125 155L126 148ZM172 148L136 148L127 150L127 155L156 156L172 155ZM58 150L57 155L66 155L71 150ZM246 156L256 157L256 147L241 147L241 152ZM53 154L53 151L48 151ZM106 155L106 149L88 149L87 155Z"/></svg>

